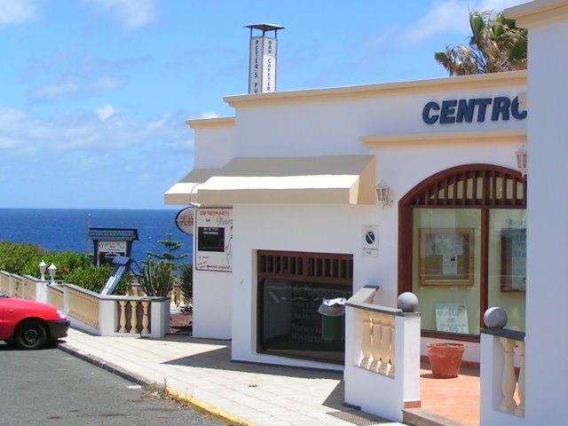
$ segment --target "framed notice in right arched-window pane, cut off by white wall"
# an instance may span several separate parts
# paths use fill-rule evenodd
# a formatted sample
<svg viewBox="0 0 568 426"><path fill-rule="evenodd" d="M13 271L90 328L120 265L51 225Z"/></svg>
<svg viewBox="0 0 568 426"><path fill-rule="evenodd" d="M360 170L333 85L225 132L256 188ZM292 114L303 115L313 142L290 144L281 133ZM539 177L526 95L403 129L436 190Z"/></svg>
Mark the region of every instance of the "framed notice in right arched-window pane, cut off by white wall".
<svg viewBox="0 0 568 426"><path fill-rule="evenodd" d="M526 229L501 229L501 291L526 290Z"/></svg>

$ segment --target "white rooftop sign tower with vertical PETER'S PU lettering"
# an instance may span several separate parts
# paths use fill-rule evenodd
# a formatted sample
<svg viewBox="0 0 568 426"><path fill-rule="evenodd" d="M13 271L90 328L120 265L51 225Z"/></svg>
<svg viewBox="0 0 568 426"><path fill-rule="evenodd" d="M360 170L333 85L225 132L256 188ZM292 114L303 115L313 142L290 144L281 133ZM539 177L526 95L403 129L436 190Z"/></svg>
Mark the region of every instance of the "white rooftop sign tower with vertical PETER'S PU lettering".
<svg viewBox="0 0 568 426"><path fill-rule="evenodd" d="M276 91L276 46L276 38L250 38L248 93Z"/></svg>

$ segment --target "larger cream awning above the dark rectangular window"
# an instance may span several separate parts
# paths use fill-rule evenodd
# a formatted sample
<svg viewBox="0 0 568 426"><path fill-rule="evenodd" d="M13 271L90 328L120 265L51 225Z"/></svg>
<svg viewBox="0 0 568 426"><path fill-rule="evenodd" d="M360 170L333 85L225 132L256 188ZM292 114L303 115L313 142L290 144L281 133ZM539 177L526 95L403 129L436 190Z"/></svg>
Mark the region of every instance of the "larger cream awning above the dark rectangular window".
<svg viewBox="0 0 568 426"><path fill-rule="evenodd" d="M192 173L177 184L176 200L182 200L179 191L185 191L186 203L197 201L202 206L376 203L375 155L234 158L201 185L190 188L185 184L195 180L189 178ZM177 185L168 192L172 197Z"/></svg>

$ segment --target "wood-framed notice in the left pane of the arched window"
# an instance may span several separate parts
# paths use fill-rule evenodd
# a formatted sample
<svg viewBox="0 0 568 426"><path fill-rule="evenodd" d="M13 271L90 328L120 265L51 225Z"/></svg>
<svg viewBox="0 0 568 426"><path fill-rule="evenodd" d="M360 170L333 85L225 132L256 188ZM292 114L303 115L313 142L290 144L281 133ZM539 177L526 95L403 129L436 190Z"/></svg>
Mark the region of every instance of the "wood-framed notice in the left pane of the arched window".
<svg viewBox="0 0 568 426"><path fill-rule="evenodd" d="M419 238L421 286L473 285L473 228L421 228Z"/></svg>

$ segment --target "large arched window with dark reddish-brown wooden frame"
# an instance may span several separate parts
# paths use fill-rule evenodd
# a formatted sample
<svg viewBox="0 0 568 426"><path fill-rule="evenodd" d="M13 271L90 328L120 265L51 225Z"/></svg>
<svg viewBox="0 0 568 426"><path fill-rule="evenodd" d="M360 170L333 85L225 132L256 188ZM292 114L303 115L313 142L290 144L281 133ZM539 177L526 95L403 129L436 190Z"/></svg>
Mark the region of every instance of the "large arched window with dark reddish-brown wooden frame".
<svg viewBox="0 0 568 426"><path fill-rule="evenodd" d="M525 330L525 177L458 166L414 186L398 208L398 291L418 296L422 336L478 341L490 306Z"/></svg>

